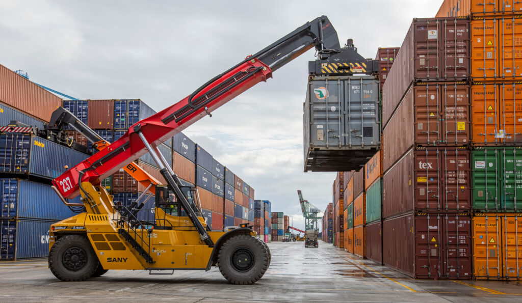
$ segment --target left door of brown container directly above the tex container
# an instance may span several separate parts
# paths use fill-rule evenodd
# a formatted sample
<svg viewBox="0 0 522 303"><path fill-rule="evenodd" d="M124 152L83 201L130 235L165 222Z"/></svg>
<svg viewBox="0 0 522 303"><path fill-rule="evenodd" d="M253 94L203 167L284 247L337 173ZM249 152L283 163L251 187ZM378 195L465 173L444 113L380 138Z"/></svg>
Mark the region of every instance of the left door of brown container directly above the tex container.
<svg viewBox="0 0 522 303"><path fill-rule="evenodd" d="M425 82L414 87L413 108L415 111L415 142L422 146L442 142L441 87L438 83Z"/></svg>

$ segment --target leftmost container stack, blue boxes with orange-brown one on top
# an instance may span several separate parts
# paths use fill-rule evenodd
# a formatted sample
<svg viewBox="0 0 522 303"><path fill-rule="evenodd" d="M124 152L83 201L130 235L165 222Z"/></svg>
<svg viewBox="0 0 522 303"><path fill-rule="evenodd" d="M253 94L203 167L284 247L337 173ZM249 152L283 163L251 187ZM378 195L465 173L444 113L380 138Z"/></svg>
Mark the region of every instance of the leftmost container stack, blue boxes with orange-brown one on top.
<svg viewBox="0 0 522 303"><path fill-rule="evenodd" d="M13 120L42 129L61 104L57 96L0 65L0 127ZM64 165L88 157L32 129L16 130L22 132L0 132L0 260L47 256L49 226L75 215L51 189L51 180L65 172Z"/></svg>

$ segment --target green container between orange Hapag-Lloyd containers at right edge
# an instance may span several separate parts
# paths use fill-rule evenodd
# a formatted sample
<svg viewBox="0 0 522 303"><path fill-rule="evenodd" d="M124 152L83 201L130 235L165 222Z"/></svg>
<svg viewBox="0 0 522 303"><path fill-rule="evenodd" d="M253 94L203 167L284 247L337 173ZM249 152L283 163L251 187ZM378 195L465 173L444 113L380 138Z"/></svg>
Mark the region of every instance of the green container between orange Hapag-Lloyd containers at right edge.
<svg viewBox="0 0 522 303"><path fill-rule="evenodd" d="M471 151L473 209L522 212L522 149L485 147Z"/></svg>

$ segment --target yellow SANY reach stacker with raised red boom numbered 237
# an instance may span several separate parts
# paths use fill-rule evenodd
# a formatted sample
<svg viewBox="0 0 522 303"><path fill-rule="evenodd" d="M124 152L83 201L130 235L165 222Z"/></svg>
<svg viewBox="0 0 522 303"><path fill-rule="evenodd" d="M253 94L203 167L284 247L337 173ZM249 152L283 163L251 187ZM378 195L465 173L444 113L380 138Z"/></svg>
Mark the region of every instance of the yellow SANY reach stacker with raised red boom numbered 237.
<svg viewBox="0 0 522 303"><path fill-rule="evenodd" d="M62 281L84 281L108 270L171 273L208 271L218 266L230 283L252 284L259 280L270 264L266 244L246 225L212 232L201 215L196 188L182 186L158 146L256 83L271 78L273 71L312 47L318 54L315 63L341 56L337 32L325 16L247 56L183 100L134 124L121 138L54 179L53 188L62 201L83 210L51 225L51 272ZM344 60L356 63L361 62L360 58ZM346 75L352 72L350 66L346 65ZM115 205L113 197L100 185L100 180L122 167L132 171L133 165L137 166L133 161L147 152L167 183L149 182L148 191L154 192L156 199L153 222L137 219L140 205ZM67 201L78 195L81 204Z"/></svg>

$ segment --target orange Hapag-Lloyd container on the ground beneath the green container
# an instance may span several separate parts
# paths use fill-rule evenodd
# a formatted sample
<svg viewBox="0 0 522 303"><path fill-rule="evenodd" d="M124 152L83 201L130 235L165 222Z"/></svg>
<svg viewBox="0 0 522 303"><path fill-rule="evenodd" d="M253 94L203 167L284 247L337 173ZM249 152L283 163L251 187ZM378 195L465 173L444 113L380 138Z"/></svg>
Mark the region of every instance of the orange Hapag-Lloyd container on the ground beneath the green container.
<svg viewBox="0 0 522 303"><path fill-rule="evenodd" d="M473 277L480 280L522 280L520 246L522 214L475 214Z"/></svg>

